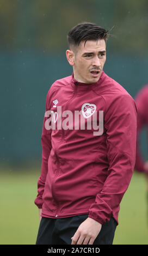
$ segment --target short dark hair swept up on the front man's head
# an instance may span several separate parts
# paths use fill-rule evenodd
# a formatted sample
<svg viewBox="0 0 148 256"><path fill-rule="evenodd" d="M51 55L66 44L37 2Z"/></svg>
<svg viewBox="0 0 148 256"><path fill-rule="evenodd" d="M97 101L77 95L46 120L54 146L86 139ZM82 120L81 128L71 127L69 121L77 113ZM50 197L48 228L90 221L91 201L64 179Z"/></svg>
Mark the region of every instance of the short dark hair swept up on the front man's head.
<svg viewBox="0 0 148 256"><path fill-rule="evenodd" d="M67 41L70 46L78 46L81 41L104 39L107 42L109 31L96 25L95 23L78 23L67 34ZM84 44L85 46L85 44Z"/></svg>

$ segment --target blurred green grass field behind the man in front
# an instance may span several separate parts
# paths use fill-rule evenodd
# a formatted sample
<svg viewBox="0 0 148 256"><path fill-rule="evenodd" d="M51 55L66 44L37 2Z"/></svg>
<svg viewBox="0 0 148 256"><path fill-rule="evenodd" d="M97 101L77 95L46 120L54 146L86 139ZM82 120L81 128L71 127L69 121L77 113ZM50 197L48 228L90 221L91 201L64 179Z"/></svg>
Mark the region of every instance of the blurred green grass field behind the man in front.
<svg viewBox="0 0 148 256"><path fill-rule="evenodd" d="M35 244L39 228L38 208L34 204L40 170L1 170L1 245ZM119 225L114 245L147 245L148 225L146 181L134 173L120 205Z"/></svg>

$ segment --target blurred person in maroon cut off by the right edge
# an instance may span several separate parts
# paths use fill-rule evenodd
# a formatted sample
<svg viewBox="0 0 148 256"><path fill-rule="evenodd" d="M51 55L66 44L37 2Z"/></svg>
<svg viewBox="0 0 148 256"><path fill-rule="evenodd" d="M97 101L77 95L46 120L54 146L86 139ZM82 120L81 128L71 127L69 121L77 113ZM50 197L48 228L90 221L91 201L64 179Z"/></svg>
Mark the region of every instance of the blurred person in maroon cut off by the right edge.
<svg viewBox="0 0 148 256"><path fill-rule="evenodd" d="M137 125L137 151L136 151L136 161L135 170L148 175L148 161L144 162L143 157L141 157L139 150L139 136L140 132L144 126L148 127L148 85L146 84L135 97L135 102L138 110L138 125ZM148 189L148 188L147 188Z"/></svg>

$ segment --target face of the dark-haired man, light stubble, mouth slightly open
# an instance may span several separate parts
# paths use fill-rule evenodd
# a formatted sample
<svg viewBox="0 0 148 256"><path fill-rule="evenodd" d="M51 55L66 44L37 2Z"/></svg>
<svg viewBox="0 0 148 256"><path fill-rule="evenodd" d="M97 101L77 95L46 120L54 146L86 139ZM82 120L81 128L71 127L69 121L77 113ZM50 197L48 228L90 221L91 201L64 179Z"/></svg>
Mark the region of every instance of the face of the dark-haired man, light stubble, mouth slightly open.
<svg viewBox="0 0 148 256"><path fill-rule="evenodd" d="M78 82L96 83L106 62L106 42L104 39L82 41L73 51L73 75Z"/></svg>

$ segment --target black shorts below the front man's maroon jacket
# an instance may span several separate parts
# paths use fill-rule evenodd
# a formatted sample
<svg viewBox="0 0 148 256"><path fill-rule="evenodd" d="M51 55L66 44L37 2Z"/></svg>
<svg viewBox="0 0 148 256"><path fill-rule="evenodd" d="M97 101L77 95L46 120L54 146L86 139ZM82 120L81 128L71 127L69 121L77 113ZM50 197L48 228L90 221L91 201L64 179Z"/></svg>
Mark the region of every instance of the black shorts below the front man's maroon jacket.
<svg viewBox="0 0 148 256"><path fill-rule="evenodd" d="M42 217L36 245L71 245L71 237L86 218L88 214L57 219ZM93 245L112 245L116 225L113 217L103 223Z"/></svg>

